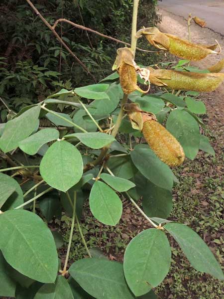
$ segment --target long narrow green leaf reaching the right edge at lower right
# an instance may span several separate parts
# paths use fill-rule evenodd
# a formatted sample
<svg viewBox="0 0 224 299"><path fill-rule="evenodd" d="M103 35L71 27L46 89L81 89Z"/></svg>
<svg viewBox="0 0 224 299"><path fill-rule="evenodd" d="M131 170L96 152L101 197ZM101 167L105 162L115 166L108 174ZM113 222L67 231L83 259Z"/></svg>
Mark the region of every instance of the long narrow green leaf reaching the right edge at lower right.
<svg viewBox="0 0 224 299"><path fill-rule="evenodd" d="M164 228L174 237L191 265L200 272L224 280L223 271L202 238L190 227L181 223L167 223Z"/></svg>

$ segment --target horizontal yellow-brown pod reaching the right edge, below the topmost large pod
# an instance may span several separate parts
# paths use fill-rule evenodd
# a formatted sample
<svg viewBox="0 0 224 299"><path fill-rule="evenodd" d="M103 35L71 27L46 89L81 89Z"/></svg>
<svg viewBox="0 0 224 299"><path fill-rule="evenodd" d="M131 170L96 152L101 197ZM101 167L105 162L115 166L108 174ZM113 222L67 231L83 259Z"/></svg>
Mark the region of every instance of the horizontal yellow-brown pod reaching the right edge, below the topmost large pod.
<svg viewBox="0 0 224 299"><path fill-rule="evenodd" d="M159 84L156 84L158 78ZM150 82L176 90L209 92L215 90L224 80L224 73L194 73L150 68Z"/></svg>

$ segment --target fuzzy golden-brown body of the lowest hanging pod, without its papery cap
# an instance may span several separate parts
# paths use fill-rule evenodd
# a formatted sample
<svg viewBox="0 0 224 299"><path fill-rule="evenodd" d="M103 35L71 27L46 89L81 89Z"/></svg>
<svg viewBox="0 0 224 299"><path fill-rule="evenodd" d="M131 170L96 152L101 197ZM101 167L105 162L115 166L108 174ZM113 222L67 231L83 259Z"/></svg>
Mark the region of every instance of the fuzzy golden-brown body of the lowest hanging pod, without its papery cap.
<svg viewBox="0 0 224 299"><path fill-rule="evenodd" d="M157 121L144 122L142 133L150 148L164 163L171 167L183 163L185 159L183 148L176 138Z"/></svg>

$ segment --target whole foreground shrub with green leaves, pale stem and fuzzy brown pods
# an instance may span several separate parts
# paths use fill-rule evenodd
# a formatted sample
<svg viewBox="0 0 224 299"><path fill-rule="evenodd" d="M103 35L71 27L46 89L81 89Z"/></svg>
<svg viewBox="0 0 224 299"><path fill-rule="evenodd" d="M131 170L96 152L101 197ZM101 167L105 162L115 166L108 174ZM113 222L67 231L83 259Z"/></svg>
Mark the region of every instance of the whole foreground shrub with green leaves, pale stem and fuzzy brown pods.
<svg viewBox="0 0 224 299"><path fill-rule="evenodd" d="M113 65L117 72L98 84L62 89L23 107L0 127L5 165L0 170L0 296L156 298L153 290L171 264L169 235L197 271L224 280L201 237L187 225L167 220L172 187L178 184L170 167L183 163L185 156L194 159L199 149L214 155L200 131L204 124L198 115L206 112L205 105L194 97L224 79L222 73L190 67L186 58L218 52L215 46L192 44L154 27L136 32L137 9L134 0L131 47L118 49ZM172 70L137 65L136 43L142 35L185 60ZM149 94L150 84L162 90ZM139 142L143 136L148 144ZM125 197L151 224L128 244L123 264L87 247L79 225L84 190L100 222L115 226ZM62 208L71 217L63 264L57 254L60 234L46 225L53 217L61 218ZM71 263L75 223L89 258Z"/></svg>

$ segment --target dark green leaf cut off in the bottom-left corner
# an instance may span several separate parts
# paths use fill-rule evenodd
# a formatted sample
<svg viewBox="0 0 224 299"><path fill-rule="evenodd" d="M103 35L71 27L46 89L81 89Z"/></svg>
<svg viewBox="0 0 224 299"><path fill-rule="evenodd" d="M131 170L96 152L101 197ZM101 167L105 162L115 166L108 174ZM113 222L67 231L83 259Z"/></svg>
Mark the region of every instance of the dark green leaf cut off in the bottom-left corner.
<svg viewBox="0 0 224 299"><path fill-rule="evenodd" d="M0 297L15 297L15 282L7 275L6 262L0 252Z"/></svg>

